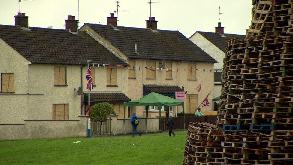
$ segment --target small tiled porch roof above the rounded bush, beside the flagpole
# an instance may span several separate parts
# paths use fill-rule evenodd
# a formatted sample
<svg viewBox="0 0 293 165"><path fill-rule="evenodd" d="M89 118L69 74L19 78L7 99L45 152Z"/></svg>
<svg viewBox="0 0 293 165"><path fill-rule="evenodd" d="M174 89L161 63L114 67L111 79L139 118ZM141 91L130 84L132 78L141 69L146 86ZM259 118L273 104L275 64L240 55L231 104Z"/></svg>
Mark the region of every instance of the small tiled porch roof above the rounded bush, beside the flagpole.
<svg viewBox="0 0 293 165"><path fill-rule="evenodd" d="M88 93L84 93L84 101L88 100ZM124 93L90 93L91 101L99 102L128 102L131 101Z"/></svg>

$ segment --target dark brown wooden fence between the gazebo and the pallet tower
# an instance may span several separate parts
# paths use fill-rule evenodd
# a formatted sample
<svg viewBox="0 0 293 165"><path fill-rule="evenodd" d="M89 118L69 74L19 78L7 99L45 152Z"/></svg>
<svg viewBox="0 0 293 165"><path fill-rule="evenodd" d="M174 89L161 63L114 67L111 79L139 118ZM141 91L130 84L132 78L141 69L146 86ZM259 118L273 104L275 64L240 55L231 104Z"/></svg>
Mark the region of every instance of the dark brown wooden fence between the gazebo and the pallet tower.
<svg viewBox="0 0 293 165"><path fill-rule="evenodd" d="M168 118L162 118L162 131L169 130L168 127L166 127L166 123L168 121ZM174 126L173 129L184 129L183 125L183 116L173 117ZM194 116L194 115L186 115L185 116L185 128L188 128L188 125L190 122L207 122L210 124L216 125L217 116L211 115L211 116ZM161 130L159 128L159 130Z"/></svg>

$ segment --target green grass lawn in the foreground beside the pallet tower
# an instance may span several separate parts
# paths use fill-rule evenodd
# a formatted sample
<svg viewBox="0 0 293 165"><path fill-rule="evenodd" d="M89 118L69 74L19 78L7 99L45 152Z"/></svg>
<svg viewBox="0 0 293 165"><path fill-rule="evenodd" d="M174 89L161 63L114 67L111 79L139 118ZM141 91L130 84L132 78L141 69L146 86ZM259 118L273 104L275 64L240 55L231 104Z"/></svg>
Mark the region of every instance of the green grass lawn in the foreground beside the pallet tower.
<svg viewBox="0 0 293 165"><path fill-rule="evenodd" d="M0 141L0 164L182 164L186 133L175 133Z"/></svg>

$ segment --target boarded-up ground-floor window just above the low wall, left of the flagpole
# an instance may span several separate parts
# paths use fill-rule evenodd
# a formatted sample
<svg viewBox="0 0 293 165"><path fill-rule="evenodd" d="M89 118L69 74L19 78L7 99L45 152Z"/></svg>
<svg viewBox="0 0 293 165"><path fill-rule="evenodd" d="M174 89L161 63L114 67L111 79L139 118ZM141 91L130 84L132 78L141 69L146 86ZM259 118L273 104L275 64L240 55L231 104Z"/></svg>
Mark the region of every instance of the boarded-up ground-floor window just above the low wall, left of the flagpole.
<svg viewBox="0 0 293 165"><path fill-rule="evenodd" d="M53 104L52 119L68 119L68 104Z"/></svg>

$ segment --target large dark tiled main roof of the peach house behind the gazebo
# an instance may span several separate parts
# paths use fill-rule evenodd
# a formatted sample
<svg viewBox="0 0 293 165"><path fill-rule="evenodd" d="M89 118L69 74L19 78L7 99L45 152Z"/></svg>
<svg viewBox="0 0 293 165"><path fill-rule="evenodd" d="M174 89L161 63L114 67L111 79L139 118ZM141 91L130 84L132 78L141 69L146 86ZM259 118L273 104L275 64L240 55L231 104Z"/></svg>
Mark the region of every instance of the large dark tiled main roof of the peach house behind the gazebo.
<svg viewBox="0 0 293 165"><path fill-rule="evenodd" d="M88 23L85 25L89 25L131 59L217 62L179 31L152 31L122 26L113 29L112 26L107 25ZM134 53L135 43L139 54Z"/></svg>

